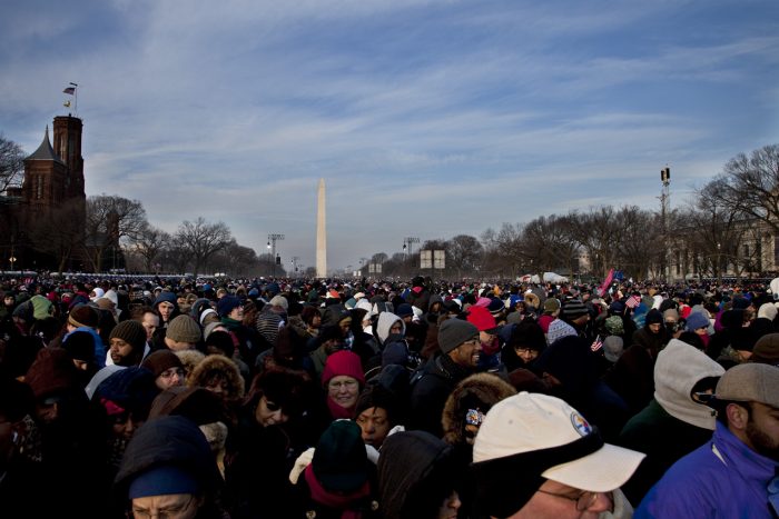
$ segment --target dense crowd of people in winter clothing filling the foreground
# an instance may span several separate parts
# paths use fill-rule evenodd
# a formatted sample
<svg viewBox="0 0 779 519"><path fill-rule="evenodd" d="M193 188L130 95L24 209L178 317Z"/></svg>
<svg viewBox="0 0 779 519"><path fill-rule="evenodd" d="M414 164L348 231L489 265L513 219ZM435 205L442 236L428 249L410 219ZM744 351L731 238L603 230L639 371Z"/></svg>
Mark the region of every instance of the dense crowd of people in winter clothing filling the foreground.
<svg viewBox="0 0 779 519"><path fill-rule="evenodd" d="M779 515L763 285L0 292L2 517Z"/></svg>

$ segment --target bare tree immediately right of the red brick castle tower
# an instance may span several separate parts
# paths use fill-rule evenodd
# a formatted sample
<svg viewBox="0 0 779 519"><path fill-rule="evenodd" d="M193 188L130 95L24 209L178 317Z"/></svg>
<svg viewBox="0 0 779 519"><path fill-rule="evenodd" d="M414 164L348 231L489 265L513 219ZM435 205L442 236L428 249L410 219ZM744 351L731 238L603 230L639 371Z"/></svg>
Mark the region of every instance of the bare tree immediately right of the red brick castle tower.
<svg viewBox="0 0 779 519"><path fill-rule="evenodd" d="M102 271L106 252L120 253L120 241L137 238L147 227L146 210L138 200L105 193L89 197L86 247L95 271Z"/></svg>

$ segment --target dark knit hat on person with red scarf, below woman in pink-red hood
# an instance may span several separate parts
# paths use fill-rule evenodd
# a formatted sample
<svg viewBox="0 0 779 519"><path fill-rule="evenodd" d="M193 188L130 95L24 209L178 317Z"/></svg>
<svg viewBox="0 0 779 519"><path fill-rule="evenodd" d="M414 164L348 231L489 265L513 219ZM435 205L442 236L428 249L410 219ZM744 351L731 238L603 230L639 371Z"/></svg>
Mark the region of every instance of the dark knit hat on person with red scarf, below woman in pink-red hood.
<svg viewBox="0 0 779 519"><path fill-rule="evenodd" d="M336 420L322 433L312 459L314 476L329 491L357 490L368 478L368 457L362 429L352 420Z"/></svg>

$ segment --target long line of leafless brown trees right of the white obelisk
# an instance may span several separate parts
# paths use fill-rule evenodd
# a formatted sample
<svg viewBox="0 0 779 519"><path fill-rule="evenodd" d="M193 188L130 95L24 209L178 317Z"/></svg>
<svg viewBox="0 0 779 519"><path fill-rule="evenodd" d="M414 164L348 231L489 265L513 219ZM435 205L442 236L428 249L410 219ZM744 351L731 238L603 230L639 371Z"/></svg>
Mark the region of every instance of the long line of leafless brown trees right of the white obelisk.
<svg viewBox="0 0 779 519"><path fill-rule="evenodd" d="M446 268L427 273L453 279L514 279L545 271L602 279L611 268L635 279L773 276L779 144L738 154L667 218L663 222L659 211L637 206L591 207L524 223L504 222L497 230L485 230L481 239L427 240L420 251L445 250ZM384 276L414 275L420 252L373 254L362 266L363 273L377 263Z"/></svg>

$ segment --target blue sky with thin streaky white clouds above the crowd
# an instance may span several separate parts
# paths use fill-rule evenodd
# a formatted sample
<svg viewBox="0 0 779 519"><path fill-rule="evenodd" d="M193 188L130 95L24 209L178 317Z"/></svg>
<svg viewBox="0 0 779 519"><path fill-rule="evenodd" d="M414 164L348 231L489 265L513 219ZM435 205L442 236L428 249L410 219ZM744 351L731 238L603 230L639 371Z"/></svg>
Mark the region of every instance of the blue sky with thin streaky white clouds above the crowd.
<svg viewBox="0 0 779 519"><path fill-rule="evenodd" d="M203 216L285 262L671 203L779 142L779 2L26 0L0 132L31 153L79 83L87 194Z"/></svg>

